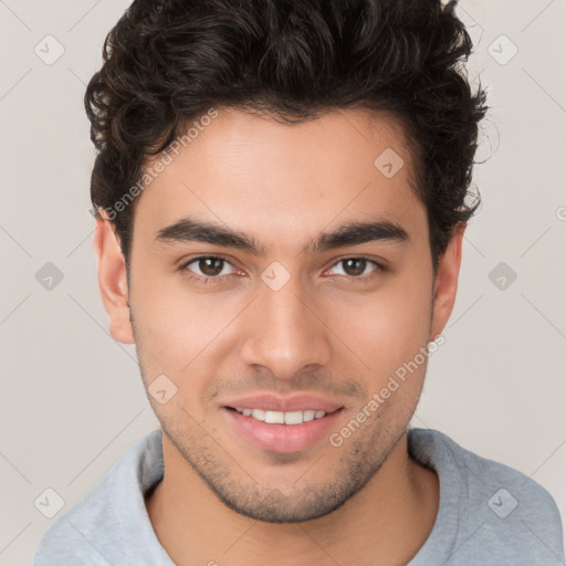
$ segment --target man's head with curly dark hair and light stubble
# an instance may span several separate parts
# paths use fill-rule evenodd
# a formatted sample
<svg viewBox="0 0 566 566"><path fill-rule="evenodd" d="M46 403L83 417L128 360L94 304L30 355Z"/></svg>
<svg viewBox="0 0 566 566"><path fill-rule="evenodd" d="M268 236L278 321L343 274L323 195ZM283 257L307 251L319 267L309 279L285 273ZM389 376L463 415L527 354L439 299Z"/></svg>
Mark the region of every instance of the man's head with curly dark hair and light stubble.
<svg viewBox="0 0 566 566"><path fill-rule="evenodd" d="M111 332L178 462L239 513L327 514L402 438L478 206L470 52L436 0L138 0L108 34L85 102ZM266 448L234 424L255 394L337 410Z"/></svg>

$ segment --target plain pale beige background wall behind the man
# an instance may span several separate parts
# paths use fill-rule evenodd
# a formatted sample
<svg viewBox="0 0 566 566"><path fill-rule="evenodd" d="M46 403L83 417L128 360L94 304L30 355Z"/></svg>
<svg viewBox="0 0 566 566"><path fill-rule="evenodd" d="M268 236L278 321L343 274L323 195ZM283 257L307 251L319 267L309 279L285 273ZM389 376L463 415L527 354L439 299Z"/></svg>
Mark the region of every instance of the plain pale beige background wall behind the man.
<svg viewBox="0 0 566 566"><path fill-rule="evenodd" d="M31 564L50 524L157 428L135 350L107 334L88 213L94 150L83 95L128 4L0 0L4 566ZM458 13L476 44L470 77L489 85L493 109L479 157L491 158L476 167L483 207L415 424L534 478L564 516L566 2L468 0ZM64 48L50 65L34 52L39 44L43 57L56 55L48 34ZM513 44L518 52L506 61ZM35 279L48 262L63 275L51 290ZM510 284L503 274L504 290L503 272L495 283L489 276L500 262L517 275ZM34 505L56 502L45 489L64 500L54 518Z"/></svg>

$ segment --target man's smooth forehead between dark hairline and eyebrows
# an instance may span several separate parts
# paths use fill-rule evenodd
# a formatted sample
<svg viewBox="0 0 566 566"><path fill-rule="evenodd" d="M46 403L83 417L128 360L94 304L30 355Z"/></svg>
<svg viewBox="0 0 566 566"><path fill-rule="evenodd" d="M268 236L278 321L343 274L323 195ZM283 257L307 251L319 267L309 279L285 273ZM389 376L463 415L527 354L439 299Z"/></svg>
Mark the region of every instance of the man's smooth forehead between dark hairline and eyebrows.
<svg viewBox="0 0 566 566"><path fill-rule="evenodd" d="M145 238L185 216L301 247L346 220L424 220L392 117L348 109L290 125L221 108L196 122L140 195L134 230Z"/></svg>

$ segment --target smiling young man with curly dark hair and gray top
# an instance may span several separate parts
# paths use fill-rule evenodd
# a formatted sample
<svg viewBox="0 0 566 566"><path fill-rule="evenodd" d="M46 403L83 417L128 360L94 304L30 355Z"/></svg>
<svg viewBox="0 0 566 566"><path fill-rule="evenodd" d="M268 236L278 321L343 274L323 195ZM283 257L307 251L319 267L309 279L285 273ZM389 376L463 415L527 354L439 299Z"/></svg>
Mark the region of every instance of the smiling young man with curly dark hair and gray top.
<svg viewBox="0 0 566 566"><path fill-rule="evenodd" d="M548 493L411 429L478 124L453 2L136 1L86 108L98 283L160 421L36 565L559 565Z"/></svg>

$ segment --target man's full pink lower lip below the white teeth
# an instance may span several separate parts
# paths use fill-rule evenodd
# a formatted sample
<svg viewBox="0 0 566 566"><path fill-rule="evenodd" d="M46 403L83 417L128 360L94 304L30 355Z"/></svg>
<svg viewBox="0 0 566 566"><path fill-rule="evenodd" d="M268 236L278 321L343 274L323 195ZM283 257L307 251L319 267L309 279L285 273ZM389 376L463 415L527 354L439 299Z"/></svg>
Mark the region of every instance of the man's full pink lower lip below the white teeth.
<svg viewBox="0 0 566 566"><path fill-rule="evenodd" d="M302 424L270 424L227 407L222 407L222 411L232 426L255 447L272 452L298 452L325 437L336 426L343 409Z"/></svg>

